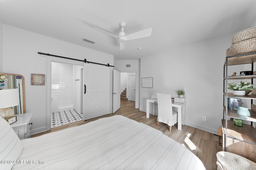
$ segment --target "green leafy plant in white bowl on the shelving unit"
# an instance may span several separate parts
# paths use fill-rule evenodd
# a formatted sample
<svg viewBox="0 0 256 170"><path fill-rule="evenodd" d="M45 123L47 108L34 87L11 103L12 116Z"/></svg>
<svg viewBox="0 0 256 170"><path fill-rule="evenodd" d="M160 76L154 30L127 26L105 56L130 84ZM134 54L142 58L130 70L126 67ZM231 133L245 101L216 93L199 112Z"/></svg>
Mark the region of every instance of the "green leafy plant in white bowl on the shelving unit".
<svg viewBox="0 0 256 170"><path fill-rule="evenodd" d="M245 96L251 92L254 88L254 84L251 84L250 82L242 82L239 83L228 83L228 89L233 90L233 94L236 96Z"/></svg>

